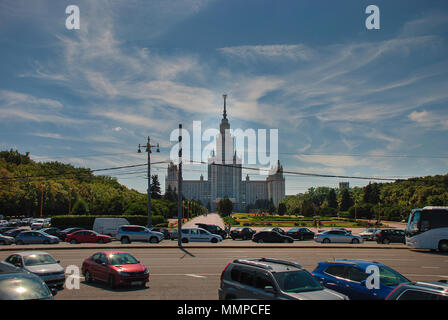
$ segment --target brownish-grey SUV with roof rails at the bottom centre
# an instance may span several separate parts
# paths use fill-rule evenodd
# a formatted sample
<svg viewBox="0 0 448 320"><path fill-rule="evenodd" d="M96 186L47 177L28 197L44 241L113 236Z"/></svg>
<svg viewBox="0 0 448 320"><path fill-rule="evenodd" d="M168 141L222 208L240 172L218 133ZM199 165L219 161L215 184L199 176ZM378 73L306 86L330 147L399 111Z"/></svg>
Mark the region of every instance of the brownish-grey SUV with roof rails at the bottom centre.
<svg viewBox="0 0 448 320"><path fill-rule="evenodd" d="M347 300L323 287L301 265L284 260L236 259L221 273L220 300Z"/></svg>

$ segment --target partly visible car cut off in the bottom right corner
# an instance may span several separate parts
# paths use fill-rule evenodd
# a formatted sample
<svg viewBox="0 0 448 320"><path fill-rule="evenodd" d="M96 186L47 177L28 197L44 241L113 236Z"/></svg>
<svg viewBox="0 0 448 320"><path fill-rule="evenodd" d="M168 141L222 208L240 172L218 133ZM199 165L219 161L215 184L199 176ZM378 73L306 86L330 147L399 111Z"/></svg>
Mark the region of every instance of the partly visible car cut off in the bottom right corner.
<svg viewBox="0 0 448 320"><path fill-rule="evenodd" d="M448 301L446 282L410 282L396 287L386 300L443 300Z"/></svg>

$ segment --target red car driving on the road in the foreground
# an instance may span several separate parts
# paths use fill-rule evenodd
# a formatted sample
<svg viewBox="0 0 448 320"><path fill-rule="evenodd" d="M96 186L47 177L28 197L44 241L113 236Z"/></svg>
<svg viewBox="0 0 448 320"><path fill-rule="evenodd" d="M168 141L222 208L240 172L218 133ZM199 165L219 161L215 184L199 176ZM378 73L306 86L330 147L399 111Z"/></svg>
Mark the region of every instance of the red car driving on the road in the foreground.
<svg viewBox="0 0 448 320"><path fill-rule="evenodd" d="M127 252L97 252L82 263L86 282L99 280L109 287L139 285L149 281L149 270Z"/></svg>

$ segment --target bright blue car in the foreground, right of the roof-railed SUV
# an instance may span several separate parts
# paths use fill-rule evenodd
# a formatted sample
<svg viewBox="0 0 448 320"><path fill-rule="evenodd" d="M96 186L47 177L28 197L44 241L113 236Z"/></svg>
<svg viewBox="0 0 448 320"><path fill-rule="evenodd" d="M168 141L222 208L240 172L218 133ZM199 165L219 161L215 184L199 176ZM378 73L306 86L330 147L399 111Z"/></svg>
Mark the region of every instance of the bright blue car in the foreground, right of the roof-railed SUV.
<svg viewBox="0 0 448 320"><path fill-rule="evenodd" d="M369 266L379 270L379 289L368 288ZM328 289L345 294L350 300L384 300L388 294L409 279L384 264L362 260L335 260L319 262L313 276ZM369 284L367 284L369 281ZM371 287L371 286L370 286Z"/></svg>

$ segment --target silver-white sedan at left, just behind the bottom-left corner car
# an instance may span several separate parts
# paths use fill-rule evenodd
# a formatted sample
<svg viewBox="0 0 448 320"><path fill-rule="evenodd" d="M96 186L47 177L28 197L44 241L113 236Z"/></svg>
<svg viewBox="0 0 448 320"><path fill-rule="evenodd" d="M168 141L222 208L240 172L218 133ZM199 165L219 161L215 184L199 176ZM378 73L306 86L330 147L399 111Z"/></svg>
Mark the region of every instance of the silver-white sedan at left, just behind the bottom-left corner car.
<svg viewBox="0 0 448 320"><path fill-rule="evenodd" d="M51 255L43 251L25 251L8 256L4 263L39 276L50 288L62 289L65 283L64 268Z"/></svg>

